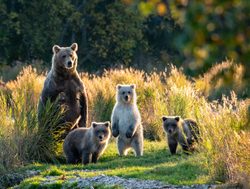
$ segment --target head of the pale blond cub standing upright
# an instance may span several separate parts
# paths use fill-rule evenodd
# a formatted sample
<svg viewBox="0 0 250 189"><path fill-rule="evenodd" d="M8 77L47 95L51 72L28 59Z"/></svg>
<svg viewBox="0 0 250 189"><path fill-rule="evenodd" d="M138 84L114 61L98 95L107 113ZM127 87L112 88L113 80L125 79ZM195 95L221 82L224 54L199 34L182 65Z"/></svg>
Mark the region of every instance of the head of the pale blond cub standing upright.
<svg viewBox="0 0 250 189"><path fill-rule="evenodd" d="M117 85L117 100L131 103L135 97L135 85Z"/></svg>

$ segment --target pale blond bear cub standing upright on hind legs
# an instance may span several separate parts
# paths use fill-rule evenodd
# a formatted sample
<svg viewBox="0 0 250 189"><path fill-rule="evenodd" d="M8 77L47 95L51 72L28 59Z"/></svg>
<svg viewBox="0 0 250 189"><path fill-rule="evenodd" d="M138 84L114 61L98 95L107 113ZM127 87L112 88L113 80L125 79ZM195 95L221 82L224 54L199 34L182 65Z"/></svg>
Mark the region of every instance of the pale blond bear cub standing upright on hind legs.
<svg viewBox="0 0 250 189"><path fill-rule="evenodd" d="M135 85L117 85L116 104L112 116L112 135L118 137L119 155L133 148L136 156L143 155L143 127L136 104Z"/></svg>

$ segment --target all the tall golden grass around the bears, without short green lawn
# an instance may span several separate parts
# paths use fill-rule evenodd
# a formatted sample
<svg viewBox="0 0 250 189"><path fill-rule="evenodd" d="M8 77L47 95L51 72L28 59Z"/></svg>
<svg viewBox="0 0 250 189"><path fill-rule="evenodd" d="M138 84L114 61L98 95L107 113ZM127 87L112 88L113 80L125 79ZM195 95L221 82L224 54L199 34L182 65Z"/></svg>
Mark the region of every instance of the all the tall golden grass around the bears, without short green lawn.
<svg viewBox="0 0 250 189"><path fill-rule="evenodd" d="M81 73L88 92L89 121L109 120L115 103L116 85L134 83L137 85L138 106L147 139L164 139L162 115L194 118L200 126L198 153L206 156L211 178L214 181L232 182L249 179L250 101L237 99L234 92L216 101L207 99L213 93L210 85L216 70L223 73L229 65L232 66L230 62L217 64L208 73L192 81L174 66L167 73L148 74L132 68L106 70L100 76ZM241 72L240 65L234 68ZM16 80L6 84L11 95L2 92L0 96L0 171L32 160L44 160L49 155L55 156L52 152L57 150L56 143L51 138L43 141L43 132L37 127L36 109L44 79L45 75L26 67ZM237 82L240 82L240 77ZM47 110L50 107L48 105ZM56 112L58 110L55 109ZM48 117L44 119L47 128L44 131L53 133L54 127L52 131L46 127L49 125L46 123L46 120L50 120L49 115L44 117ZM56 120L53 125L56 125ZM38 143L38 138L43 143ZM53 145L46 146L51 143Z"/></svg>

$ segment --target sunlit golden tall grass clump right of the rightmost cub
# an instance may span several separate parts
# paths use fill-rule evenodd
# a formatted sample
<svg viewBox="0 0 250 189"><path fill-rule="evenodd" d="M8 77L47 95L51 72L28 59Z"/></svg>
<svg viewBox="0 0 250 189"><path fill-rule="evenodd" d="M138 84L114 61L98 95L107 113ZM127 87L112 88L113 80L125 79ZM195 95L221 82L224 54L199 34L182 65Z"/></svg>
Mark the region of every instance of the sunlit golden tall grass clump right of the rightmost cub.
<svg viewBox="0 0 250 189"><path fill-rule="evenodd" d="M201 148L214 179L239 181L246 175L250 178L248 107L233 92L230 97L223 97L221 103L215 101L201 107Z"/></svg>

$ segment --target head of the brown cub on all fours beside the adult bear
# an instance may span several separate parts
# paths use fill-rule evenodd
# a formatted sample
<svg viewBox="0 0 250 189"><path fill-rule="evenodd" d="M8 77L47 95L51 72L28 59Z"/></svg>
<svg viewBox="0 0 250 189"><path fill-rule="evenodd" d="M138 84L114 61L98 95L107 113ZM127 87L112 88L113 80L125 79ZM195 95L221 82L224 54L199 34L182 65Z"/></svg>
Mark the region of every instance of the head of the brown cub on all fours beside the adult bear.
<svg viewBox="0 0 250 189"><path fill-rule="evenodd" d="M100 143L106 142L110 138L110 122L92 122L92 127L94 128L94 136L96 140Z"/></svg>

